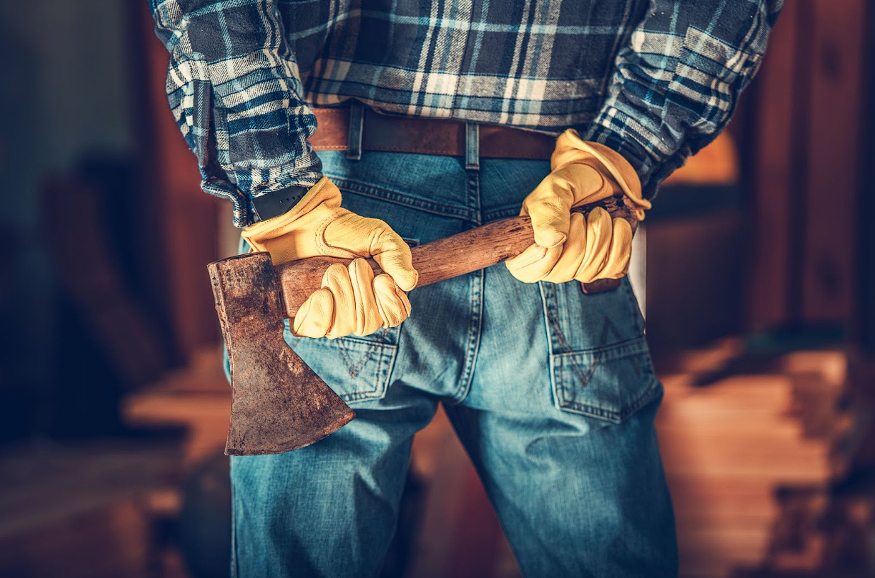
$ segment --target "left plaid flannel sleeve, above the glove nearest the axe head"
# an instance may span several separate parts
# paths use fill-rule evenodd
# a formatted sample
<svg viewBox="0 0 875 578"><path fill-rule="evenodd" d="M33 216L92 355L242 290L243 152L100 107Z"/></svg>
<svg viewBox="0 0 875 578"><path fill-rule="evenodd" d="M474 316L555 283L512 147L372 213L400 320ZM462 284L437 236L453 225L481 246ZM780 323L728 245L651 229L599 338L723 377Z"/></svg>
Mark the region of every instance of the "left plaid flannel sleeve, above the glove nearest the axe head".
<svg viewBox="0 0 875 578"><path fill-rule="evenodd" d="M197 157L201 188L251 222L252 198L310 187L322 167L277 0L150 0L170 52L167 99Z"/></svg>

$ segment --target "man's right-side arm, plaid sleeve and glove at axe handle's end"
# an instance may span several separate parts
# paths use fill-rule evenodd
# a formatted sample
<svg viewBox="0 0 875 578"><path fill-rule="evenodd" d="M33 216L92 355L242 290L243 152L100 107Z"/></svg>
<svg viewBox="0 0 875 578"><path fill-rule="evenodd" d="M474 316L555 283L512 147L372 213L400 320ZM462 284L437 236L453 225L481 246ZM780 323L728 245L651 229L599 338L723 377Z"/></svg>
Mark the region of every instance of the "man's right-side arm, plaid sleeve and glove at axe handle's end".
<svg viewBox="0 0 875 578"><path fill-rule="evenodd" d="M523 282L626 275L632 231L607 213L584 219L570 208L620 190L642 219L662 179L729 121L782 3L649 0L618 53L604 107L583 138L568 130L557 139L552 171L523 202L535 243L506 261L511 275Z"/></svg>

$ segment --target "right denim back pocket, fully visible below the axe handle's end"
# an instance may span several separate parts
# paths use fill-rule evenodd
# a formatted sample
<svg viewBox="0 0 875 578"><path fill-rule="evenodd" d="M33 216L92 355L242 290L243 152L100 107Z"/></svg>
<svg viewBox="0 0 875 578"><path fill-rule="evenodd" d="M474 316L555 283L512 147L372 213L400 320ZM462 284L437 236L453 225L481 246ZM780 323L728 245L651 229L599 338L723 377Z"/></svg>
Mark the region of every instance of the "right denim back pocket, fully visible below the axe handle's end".
<svg viewBox="0 0 875 578"><path fill-rule="evenodd" d="M584 295L542 283L556 407L620 423L661 393L632 288Z"/></svg>

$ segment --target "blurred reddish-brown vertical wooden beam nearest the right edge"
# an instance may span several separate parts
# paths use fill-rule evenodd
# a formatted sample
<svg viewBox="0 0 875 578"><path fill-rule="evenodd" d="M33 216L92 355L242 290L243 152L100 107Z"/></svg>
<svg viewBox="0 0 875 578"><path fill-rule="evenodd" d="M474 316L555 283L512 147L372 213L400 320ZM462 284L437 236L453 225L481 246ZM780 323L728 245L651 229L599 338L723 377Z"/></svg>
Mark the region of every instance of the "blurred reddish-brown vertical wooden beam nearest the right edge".
<svg viewBox="0 0 875 578"><path fill-rule="evenodd" d="M802 320L844 323L851 311L865 0L814 0Z"/></svg>

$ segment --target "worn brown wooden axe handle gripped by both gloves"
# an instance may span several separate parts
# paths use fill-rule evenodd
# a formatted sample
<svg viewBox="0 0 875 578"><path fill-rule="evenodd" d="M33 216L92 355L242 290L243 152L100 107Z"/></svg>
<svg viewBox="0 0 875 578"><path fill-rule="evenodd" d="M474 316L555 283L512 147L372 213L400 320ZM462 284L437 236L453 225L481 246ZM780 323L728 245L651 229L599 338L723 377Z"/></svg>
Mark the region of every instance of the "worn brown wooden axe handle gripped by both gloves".
<svg viewBox="0 0 875 578"><path fill-rule="evenodd" d="M597 206L605 208L613 217L627 219L633 231L637 228L638 219L625 197L606 198L572 210L585 214ZM413 268L419 272L416 287L465 275L505 261L521 254L533 242L535 237L531 219L512 217L413 247ZM311 257L277 267L286 315L289 318L295 317L304 300L321 286L322 275L329 265L349 262L349 259L334 257ZM367 259L367 262L374 268L374 275L382 273L374 260Z"/></svg>

